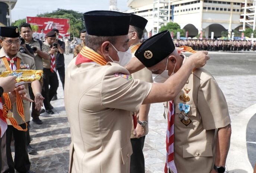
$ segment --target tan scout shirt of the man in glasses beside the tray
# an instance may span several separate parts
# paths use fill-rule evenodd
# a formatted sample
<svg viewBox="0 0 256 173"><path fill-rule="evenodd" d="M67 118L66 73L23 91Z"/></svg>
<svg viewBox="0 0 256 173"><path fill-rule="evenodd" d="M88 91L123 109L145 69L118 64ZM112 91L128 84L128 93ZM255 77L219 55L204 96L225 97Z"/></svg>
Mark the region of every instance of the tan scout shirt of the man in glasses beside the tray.
<svg viewBox="0 0 256 173"><path fill-rule="evenodd" d="M3 57L7 56L6 53L4 52L4 49L2 48L0 50L0 73L2 73L3 71L7 71L6 67L4 65L4 61L3 61ZM20 58L20 70L35 70L35 61L34 58L30 57L27 54L23 54L18 52L16 55L18 58ZM15 61L15 66L17 66L17 61ZM28 83L24 84L25 88L27 90L27 97L29 97L29 92L28 92ZM25 121L28 122L30 120L30 103L26 100L22 100L23 101L23 108L24 108L24 116L25 116ZM12 110L11 112L13 113L13 118L17 121L18 125L25 123L22 118L19 116L18 112L17 112L17 106L16 103L13 104L12 106ZM9 120L7 119L7 122ZM10 124L9 124L10 125Z"/></svg>

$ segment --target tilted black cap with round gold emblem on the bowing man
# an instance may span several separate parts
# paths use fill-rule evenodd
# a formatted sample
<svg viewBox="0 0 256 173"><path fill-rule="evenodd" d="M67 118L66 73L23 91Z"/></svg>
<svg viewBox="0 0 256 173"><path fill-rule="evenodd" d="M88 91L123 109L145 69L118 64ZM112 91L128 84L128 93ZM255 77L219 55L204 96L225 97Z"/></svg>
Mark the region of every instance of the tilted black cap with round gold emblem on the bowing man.
<svg viewBox="0 0 256 173"><path fill-rule="evenodd" d="M135 56L146 67L159 63L175 49L169 31L160 32L143 42L135 52Z"/></svg>

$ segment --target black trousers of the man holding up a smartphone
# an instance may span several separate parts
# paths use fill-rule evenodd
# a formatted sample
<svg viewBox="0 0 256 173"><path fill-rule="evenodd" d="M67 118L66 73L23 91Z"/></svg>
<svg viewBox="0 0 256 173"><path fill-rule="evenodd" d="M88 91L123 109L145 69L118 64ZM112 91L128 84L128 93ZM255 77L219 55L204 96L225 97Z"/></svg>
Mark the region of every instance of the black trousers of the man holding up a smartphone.
<svg viewBox="0 0 256 173"><path fill-rule="evenodd" d="M57 94L57 89L59 87L59 80L57 73L51 72L50 68L43 68L44 71L44 84L42 87L42 96L44 97L44 107L45 109L51 109L50 101L55 94ZM50 85L50 88L49 88Z"/></svg>

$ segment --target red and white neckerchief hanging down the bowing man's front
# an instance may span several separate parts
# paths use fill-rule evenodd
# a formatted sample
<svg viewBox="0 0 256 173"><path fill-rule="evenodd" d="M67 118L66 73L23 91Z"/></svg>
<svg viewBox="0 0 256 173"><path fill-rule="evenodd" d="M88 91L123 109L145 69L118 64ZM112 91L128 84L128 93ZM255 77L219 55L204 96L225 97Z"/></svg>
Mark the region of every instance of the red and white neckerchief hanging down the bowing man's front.
<svg viewBox="0 0 256 173"><path fill-rule="evenodd" d="M166 132L166 162L164 167L164 173L168 173L168 168L177 173L177 169L174 163L174 104L173 100L168 102L168 126Z"/></svg>

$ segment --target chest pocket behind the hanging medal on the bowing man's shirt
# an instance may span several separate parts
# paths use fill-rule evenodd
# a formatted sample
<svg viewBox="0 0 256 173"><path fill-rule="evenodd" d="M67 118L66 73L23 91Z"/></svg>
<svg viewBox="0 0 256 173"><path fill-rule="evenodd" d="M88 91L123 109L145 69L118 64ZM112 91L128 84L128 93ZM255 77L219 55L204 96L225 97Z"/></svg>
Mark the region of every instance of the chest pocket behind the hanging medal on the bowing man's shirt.
<svg viewBox="0 0 256 173"><path fill-rule="evenodd" d="M189 116L189 119L190 121L192 121L189 125L184 125L182 122L181 122L181 119L179 118L179 115L180 115L180 109L179 109L179 106L178 104L176 105L176 108L175 108L175 124L177 126L180 126L180 127L184 127L184 128L195 128L198 126L199 124L199 118L196 116L197 115L197 110L196 110L196 106L191 106L190 105L190 110L189 112L187 113L187 115ZM184 113L184 111L183 111Z"/></svg>

